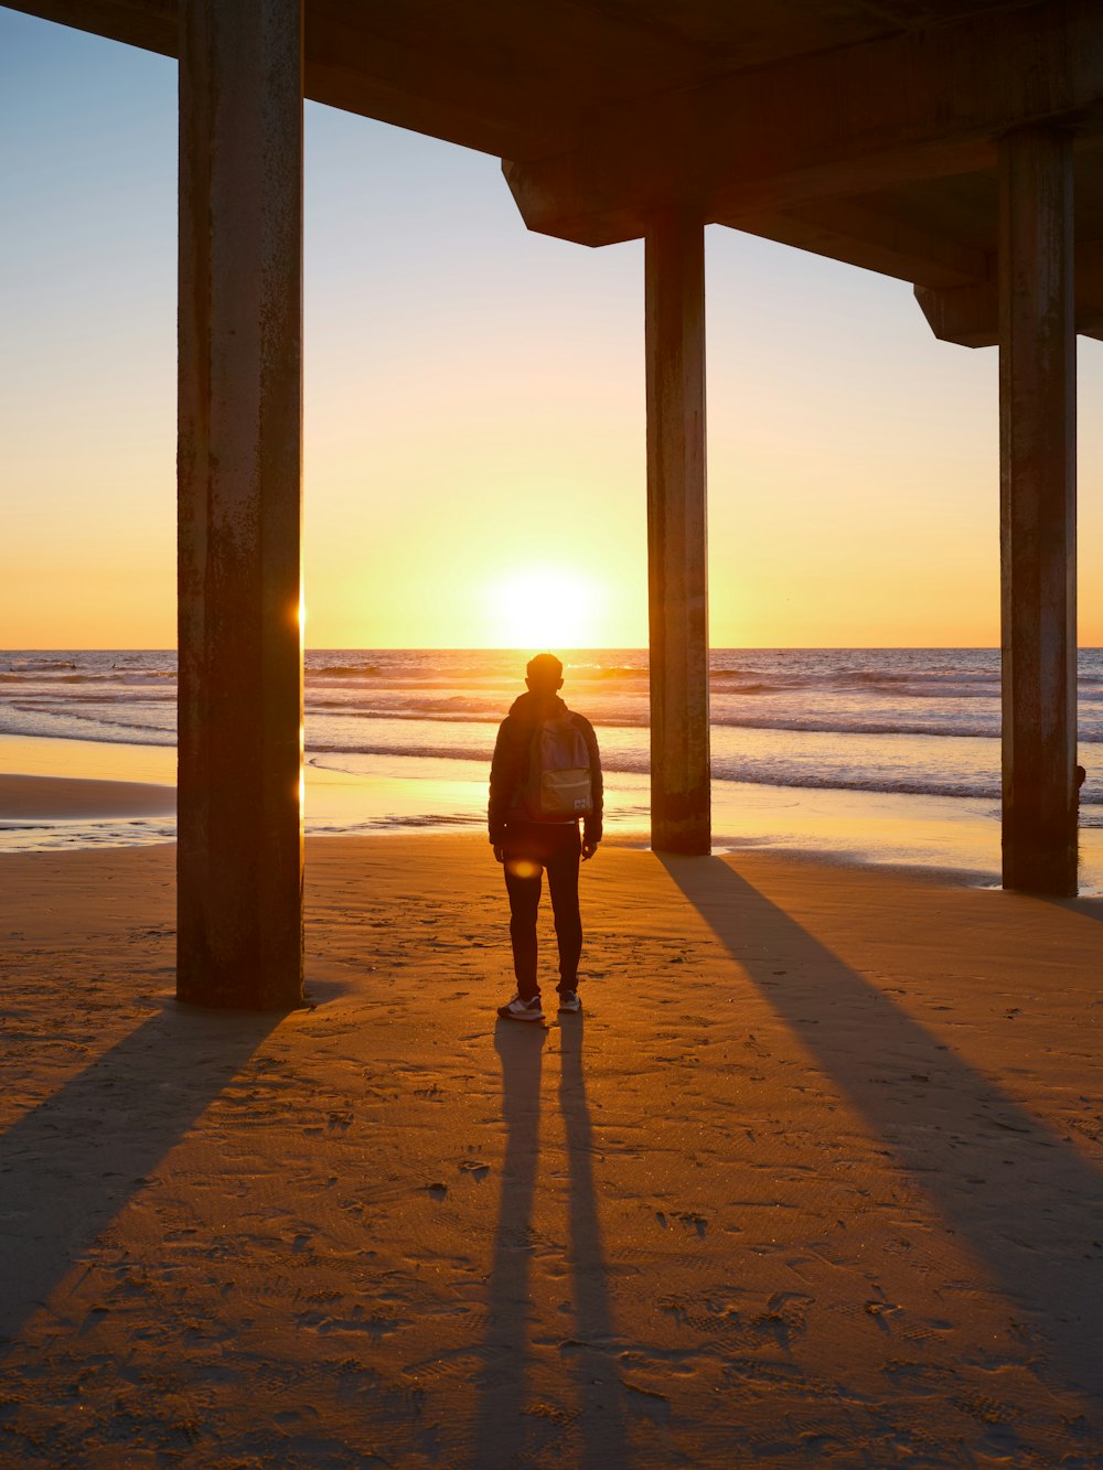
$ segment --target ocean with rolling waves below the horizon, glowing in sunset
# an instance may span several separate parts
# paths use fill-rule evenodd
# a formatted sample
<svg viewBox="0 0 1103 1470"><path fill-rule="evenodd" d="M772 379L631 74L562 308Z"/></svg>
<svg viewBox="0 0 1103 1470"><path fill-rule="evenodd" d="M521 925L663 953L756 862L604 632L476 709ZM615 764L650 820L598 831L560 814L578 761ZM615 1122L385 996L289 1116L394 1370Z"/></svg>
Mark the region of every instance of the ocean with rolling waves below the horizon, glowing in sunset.
<svg viewBox="0 0 1103 1470"><path fill-rule="evenodd" d="M602 744L609 828L644 831L647 653L560 656L563 695ZM524 689L524 662L515 650L310 650L307 766L319 791L341 776L360 778L363 800L359 810L347 801L338 810L324 798L313 813L307 800L307 831L481 822L494 734ZM175 692L175 653L0 653L0 735L171 747ZM965 845L972 853L979 842L982 860L974 853L965 866L999 866L997 650L716 648L710 709L721 845L772 841L854 856L869 847L859 829L872 822L878 851L865 856L960 866L962 832L979 822L987 835ZM1088 832L1103 825L1100 745L1103 650L1085 648L1079 760L1088 770L1081 797ZM962 832L949 851L946 826L954 817ZM916 823L929 828L918 847ZM3 838L19 841L10 823Z"/></svg>

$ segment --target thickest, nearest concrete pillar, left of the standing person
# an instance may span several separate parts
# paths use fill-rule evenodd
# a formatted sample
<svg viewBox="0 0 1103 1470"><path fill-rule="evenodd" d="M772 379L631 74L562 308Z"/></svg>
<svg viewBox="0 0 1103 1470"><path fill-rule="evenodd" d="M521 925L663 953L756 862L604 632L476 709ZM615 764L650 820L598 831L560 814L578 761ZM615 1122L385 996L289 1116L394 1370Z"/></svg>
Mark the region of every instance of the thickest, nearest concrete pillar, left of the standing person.
<svg viewBox="0 0 1103 1470"><path fill-rule="evenodd" d="M179 6L176 994L303 991L301 0Z"/></svg>

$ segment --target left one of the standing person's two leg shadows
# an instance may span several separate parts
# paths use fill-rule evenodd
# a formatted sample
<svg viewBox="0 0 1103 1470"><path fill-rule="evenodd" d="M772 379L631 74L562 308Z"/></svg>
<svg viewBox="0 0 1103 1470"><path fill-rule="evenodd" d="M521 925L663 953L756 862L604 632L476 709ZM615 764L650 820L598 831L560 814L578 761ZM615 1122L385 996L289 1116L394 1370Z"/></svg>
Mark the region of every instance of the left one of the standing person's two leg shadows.
<svg viewBox="0 0 1103 1470"><path fill-rule="evenodd" d="M532 1201L540 1160L540 1076L547 1030L499 1020L506 1157L487 1299L487 1335L475 1416L475 1464L494 1470L522 1463L528 1361Z"/></svg>

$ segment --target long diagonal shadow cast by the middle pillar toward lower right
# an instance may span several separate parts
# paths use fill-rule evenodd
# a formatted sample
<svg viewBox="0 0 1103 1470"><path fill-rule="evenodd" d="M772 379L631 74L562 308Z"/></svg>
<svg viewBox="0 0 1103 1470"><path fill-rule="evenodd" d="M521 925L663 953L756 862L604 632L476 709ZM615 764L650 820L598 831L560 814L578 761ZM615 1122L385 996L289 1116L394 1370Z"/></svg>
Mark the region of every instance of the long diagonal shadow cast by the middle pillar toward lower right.
<svg viewBox="0 0 1103 1470"><path fill-rule="evenodd" d="M727 863L662 861L1099 1414L1103 1177Z"/></svg>

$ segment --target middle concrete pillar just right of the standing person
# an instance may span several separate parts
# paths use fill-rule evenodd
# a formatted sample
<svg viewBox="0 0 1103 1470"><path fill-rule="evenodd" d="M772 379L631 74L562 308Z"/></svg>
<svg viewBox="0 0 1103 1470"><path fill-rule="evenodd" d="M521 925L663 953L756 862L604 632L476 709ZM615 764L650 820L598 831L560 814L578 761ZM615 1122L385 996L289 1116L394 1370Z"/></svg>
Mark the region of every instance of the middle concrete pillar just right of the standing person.
<svg viewBox="0 0 1103 1470"><path fill-rule="evenodd" d="M646 240L652 847L707 853L709 594L704 507L704 231Z"/></svg>

